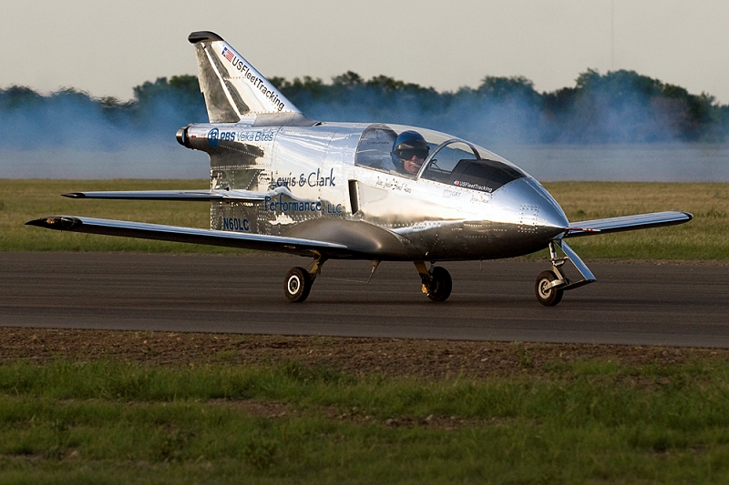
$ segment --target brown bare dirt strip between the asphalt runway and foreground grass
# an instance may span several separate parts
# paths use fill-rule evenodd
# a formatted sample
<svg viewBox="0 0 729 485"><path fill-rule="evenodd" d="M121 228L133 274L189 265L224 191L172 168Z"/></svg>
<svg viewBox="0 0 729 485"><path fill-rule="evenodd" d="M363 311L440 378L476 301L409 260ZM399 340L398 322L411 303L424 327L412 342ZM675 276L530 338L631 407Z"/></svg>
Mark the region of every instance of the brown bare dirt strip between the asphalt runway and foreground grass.
<svg viewBox="0 0 729 485"><path fill-rule="evenodd" d="M354 375L438 379L549 375L560 364L611 360L632 366L729 360L727 349L586 344L287 337L180 332L0 328L0 362L121 359L165 366L212 363L324 366Z"/></svg>

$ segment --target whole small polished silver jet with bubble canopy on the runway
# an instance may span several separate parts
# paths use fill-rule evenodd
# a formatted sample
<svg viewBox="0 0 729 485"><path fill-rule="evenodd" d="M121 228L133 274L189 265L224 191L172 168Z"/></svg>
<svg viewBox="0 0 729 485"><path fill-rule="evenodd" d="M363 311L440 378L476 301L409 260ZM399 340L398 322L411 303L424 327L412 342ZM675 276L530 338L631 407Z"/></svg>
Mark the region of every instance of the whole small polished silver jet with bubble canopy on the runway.
<svg viewBox="0 0 729 485"><path fill-rule="evenodd" d="M210 201L210 229L75 216L27 224L311 257L309 269L292 268L284 278L293 302L309 296L327 259L370 260L373 273L380 261L413 261L423 293L444 301L451 278L436 261L549 248L551 269L539 274L536 294L551 306L565 290L595 281L564 239L693 218L659 212L570 223L537 180L485 148L412 126L315 121L220 35L194 32L189 40L210 123L184 126L177 139L209 154L210 190L65 196ZM560 267L568 260L581 279L565 277Z"/></svg>

